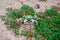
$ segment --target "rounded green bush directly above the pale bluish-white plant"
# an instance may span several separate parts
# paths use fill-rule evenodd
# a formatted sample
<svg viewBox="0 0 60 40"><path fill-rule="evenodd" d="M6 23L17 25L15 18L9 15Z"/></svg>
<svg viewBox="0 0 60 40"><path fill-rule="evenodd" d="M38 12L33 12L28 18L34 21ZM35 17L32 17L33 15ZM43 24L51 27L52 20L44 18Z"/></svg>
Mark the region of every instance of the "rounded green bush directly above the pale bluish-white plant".
<svg viewBox="0 0 60 40"><path fill-rule="evenodd" d="M34 15L34 9L32 8L32 7L30 7L30 6L28 6L28 5L23 5L22 7L21 7L21 11L22 11L22 13L23 14L25 14L25 15Z"/></svg>

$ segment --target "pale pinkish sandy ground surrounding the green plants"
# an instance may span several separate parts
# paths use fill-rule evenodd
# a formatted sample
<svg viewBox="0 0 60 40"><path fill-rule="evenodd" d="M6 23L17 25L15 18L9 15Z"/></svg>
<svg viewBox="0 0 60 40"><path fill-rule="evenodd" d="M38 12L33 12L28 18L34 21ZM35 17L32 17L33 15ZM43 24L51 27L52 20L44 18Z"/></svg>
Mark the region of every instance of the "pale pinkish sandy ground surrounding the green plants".
<svg viewBox="0 0 60 40"><path fill-rule="evenodd" d="M19 0L24 4L27 4L34 8L35 11L44 11L46 8L51 6L60 6L60 0L48 0L46 2L39 2L39 0ZM14 9L21 8L21 3L18 0L0 0L0 15L5 15L6 8L12 7ZM38 9L35 4L39 4L40 8ZM14 36L14 34L7 30L6 25L0 18L0 40L27 40L24 36Z"/></svg>

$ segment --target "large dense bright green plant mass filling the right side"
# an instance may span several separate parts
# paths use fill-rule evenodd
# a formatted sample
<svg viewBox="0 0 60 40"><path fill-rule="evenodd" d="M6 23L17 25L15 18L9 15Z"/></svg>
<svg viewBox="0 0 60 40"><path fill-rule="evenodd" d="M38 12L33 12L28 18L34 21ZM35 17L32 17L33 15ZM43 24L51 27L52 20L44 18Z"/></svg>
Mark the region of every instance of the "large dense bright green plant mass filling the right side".
<svg viewBox="0 0 60 40"><path fill-rule="evenodd" d="M47 14L47 15L46 15ZM47 9L45 14L41 17L42 19L38 19L38 25L35 25L35 32L44 37L52 36L55 33L60 33L60 14L56 9ZM53 16L53 17L52 17ZM55 37L54 37L55 38Z"/></svg>

